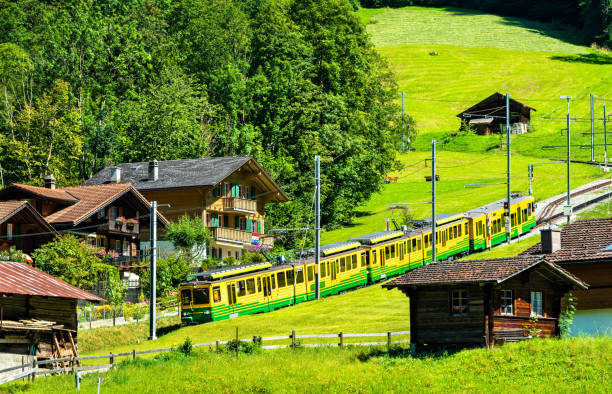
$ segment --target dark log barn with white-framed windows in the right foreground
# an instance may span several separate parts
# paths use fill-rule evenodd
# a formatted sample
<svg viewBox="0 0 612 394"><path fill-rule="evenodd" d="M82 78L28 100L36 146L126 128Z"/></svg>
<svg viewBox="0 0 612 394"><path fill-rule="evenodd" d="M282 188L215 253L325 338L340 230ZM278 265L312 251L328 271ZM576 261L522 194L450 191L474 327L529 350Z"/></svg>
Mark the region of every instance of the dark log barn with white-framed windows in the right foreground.
<svg viewBox="0 0 612 394"><path fill-rule="evenodd" d="M410 342L418 351L492 347L536 330L557 336L562 297L587 285L546 260L504 258L432 263L383 287L410 297Z"/></svg>

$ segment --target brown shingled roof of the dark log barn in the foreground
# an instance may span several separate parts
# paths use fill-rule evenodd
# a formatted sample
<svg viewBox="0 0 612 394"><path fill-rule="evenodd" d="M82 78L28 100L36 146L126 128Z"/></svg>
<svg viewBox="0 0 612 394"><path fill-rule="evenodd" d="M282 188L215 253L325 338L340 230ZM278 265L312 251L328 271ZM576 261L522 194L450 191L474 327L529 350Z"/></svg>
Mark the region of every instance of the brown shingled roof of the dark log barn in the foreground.
<svg viewBox="0 0 612 394"><path fill-rule="evenodd" d="M545 265L565 281L585 288L587 285L558 265L534 257L511 257L489 260L439 261L412 270L383 287L447 285L459 283L502 283L537 265Z"/></svg>

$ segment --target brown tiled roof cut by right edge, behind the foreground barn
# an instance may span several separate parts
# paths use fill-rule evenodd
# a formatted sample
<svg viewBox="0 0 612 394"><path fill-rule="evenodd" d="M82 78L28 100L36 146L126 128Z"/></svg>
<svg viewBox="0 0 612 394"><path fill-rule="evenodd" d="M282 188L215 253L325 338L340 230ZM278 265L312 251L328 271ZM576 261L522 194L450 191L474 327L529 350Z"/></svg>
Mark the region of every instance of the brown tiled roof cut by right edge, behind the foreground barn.
<svg viewBox="0 0 612 394"><path fill-rule="evenodd" d="M538 243L519 256L539 256L557 264L569 264L593 260L612 261L612 218L576 220L561 229L561 249L554 253L542 253Z"/></svg>

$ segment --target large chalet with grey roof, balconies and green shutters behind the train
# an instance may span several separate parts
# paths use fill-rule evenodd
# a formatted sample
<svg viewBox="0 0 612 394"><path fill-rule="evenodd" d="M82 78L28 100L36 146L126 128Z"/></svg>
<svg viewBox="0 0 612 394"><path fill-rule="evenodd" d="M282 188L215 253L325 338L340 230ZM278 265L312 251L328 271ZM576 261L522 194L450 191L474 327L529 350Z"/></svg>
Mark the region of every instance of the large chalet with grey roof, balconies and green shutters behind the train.
<svg viewBox="0 0 612 394"><path fill-rule="evenodd" d="M239 259L253 244L272 245L265 233L265 206L289 201L251 156L122 163L84 185L131 183L150 201L170 204L169 220L201 217L214 239L213 258Z"/></svg>

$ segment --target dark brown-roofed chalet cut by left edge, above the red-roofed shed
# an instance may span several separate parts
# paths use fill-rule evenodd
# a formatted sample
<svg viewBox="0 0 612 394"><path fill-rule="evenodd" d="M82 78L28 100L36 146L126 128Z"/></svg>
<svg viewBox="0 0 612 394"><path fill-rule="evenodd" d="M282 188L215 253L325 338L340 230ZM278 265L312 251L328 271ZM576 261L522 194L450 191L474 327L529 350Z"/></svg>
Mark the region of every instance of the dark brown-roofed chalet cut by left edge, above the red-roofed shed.
<svg viewBox="0 0 612 394"><path fill-rule="evenodd" d="M11 246L32 253L40 243L49 242L55 229L27 201L0 202L0 252Z"/></svg>

